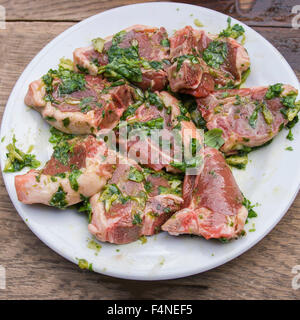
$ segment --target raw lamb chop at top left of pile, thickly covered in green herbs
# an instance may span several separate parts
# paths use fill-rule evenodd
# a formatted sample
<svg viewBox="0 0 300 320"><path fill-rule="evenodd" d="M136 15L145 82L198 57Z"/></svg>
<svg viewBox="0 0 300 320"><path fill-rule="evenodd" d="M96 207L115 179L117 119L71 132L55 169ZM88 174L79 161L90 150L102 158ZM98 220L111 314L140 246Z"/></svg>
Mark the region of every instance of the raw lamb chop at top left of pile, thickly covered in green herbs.
<svg viewBox="0 0 300 320"><path fill-rule="evenodd" d="M134 25L93 46L73 53L74 67L113 79L126 78L143 90L162 90L167 83L169 41L165 28Z"/></svg>

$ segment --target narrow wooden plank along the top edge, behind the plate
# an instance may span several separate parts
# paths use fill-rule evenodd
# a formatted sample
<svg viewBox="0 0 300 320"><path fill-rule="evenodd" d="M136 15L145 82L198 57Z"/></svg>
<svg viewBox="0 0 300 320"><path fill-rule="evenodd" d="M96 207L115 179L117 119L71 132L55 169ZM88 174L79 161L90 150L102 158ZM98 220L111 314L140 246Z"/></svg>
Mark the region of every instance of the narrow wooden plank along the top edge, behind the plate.
<svg viewBox="0 0 300 320"><path fill-rule="evenodd" d="M2 0L7 20L80 21L96 13L150 0ZM297 0L179 0L232 15L251 26L291 26ZM167 13L166 13L167 14Z"/></svg>

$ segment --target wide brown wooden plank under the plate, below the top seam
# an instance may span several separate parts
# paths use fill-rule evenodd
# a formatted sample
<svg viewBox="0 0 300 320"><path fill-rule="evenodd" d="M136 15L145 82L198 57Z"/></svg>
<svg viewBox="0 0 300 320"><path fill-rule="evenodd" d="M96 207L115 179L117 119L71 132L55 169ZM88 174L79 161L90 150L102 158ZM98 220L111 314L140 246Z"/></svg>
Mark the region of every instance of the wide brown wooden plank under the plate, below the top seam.
<svg viewBox="0 0 300 320"><path fill-rule="evenodd" d="M17 22L0 30L0 114L34 55L73 23ZM300 78L299 32L256 28ZM84 272L46 247L16 213L0 179L0 264L7 289L0 299L299 299L291 268L300 264L300 195L276 228L239 258L204 274L162 282L113 279Z"/></svg>

